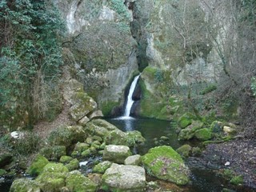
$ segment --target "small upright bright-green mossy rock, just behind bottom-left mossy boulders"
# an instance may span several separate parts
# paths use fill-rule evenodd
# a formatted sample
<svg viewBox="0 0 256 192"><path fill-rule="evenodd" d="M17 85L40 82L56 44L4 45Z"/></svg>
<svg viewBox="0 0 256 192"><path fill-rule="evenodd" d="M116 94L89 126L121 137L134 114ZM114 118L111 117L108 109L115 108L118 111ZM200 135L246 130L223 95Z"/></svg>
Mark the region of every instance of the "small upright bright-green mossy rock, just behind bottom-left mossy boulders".
<svg viewBox="0 0 256 192"><path fill-rule="evenodd" d="M42 173L43 168L49 163L48 159L42 156L41 154L38 154L33 161L31 162L31 165L28 167L26 172L30 175L38 175Z"/></svg>

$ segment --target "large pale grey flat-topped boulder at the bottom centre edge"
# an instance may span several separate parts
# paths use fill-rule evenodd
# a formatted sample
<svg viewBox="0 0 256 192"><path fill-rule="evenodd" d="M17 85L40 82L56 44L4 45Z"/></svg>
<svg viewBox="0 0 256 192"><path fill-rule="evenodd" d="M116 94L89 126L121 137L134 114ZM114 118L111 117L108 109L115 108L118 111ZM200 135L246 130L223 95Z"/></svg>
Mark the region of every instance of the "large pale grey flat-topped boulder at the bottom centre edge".
<svg viewBox="0 0 256 192"><path fill-rule="evenodd" d="M141 166L124 166L113 163L102 175L102 186L113 191L145 191L145 170Z"/></svg>

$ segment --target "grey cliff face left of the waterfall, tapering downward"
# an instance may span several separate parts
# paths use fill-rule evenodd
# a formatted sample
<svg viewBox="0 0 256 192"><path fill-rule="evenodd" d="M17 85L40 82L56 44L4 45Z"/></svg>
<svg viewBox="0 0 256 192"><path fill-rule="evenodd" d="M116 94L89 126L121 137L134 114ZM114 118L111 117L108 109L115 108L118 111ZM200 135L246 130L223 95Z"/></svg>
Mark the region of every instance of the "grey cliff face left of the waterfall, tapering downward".
<svg viewBox="0 0 256 192"><path fill-rule="evenodd" d="M122 103L124 89L138 71L137 42L130 33L130 3L58 0L55 4L66 21L66 64L103 113L109 114Z"/></svg>

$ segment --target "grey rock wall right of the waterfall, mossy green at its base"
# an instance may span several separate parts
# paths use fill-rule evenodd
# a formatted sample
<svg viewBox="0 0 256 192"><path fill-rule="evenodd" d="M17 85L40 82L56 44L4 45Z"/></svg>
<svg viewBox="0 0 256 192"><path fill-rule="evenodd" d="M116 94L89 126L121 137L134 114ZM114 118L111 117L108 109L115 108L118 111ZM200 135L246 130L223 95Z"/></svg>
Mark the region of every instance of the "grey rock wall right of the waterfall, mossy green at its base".
<svg viewBox="0 0 256 192"><path fill-rule="evenodd" d="M134 3L134 22L141 23L134 24L140 26L136 38L146 45L148 62L140 82L139 115L172 118L173 110L180 106L179 99L198 94L200 89L220 81L225 65L223 54L230 45L228 36L234 28L227 2L157 0Z"/></svg>

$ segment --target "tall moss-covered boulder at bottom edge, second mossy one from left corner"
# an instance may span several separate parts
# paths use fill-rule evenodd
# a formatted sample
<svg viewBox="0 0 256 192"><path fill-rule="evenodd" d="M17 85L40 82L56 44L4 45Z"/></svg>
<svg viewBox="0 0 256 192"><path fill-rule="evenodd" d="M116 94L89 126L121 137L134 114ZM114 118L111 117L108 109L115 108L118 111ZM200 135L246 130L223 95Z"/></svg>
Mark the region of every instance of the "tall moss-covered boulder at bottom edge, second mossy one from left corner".
<svg viewBox="0 0 256 192"><path fill-rule="evenodd" d="M42 174L36 178L42 191L57 192L65 186L66 174L69 170L62 163L48 163Z"/></svg>

